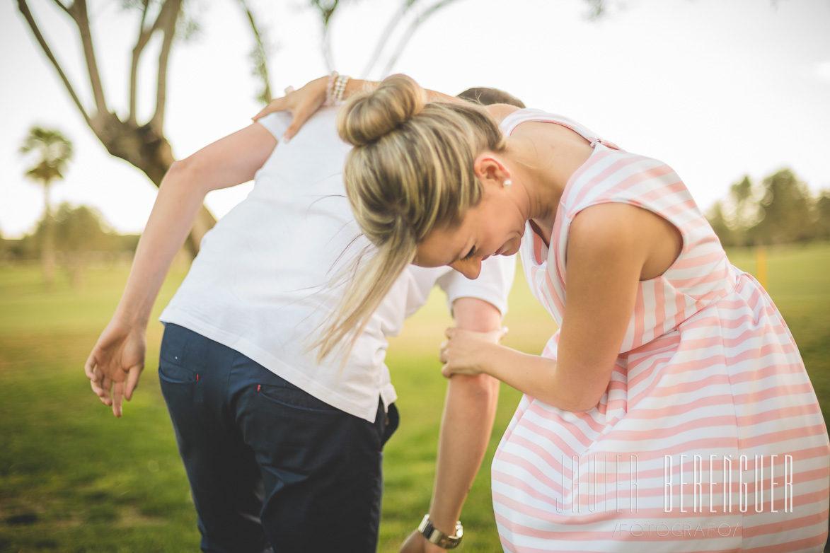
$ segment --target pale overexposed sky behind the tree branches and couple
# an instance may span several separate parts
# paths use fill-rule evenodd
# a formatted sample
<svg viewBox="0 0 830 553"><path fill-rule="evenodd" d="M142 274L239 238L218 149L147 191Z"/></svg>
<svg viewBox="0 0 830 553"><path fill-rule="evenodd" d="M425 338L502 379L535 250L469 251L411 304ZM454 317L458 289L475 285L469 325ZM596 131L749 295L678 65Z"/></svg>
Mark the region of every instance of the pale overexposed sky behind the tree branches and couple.
<svg viewBox="0 0 830 553"><path fill-rule="evenodd" d="M784 167L813 192L830 188L830 0L610 1L608 16L590 22L583 0L457 0L418 30L393 72L449 94L496 86L530 107L567 115L669 163L703 208L744 175L759 182ZM254 2L274 46L273 90L326 73L307 3ZM32 4L89 105L71 22L52 2ZM134 23L120 2L90 4L110 109L123 114ZM341 4L332 23L335 69L362 76L398 1ZM174 48L168 77L165 130L178 158L246 126L260 108L237 2L193 6L203 32ZM155 51L145 55L145 70L153 69ZM154 78L146 76L152 90ZM53 206L95 206L115 229L140 232L156 188L110 157L85 126L16 2L0 2L0 78L0 233L30 232L41 216L41 187L22 177L32 160L17 153L32 124L61 129L75 143ZM207 205L222 216L249 187L212 192Z"/></svg>

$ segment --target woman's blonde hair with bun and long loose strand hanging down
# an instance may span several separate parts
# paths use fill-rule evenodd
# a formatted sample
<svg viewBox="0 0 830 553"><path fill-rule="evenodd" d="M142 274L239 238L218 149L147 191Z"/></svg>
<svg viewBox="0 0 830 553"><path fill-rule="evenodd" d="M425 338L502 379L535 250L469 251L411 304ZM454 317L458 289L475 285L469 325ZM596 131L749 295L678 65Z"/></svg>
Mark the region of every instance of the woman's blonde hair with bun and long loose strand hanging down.
<svg viewBox="0 0 830 553"><path fill-rule="evenodd" d="M354 148L343 177L354 217L377 253L352 275L334 320L316 342L319 357L348 352L383 297L434 229L452 229L481 200L473 162L505 140L490 114L468 103L427 102L406 75L354 96L337 121Z"/></svg>

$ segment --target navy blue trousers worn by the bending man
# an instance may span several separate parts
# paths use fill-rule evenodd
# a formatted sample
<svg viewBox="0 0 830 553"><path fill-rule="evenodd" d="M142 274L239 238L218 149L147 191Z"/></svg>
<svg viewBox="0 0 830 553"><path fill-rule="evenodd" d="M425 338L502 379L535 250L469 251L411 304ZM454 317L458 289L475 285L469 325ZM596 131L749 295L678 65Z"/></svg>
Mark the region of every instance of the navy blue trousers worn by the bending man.
<svg viewBox="0 0 830 553"><path fill-rule="evenodd" d="M370 423L172 323L159 381L202 551L376 551L394 405Z"/></svg>

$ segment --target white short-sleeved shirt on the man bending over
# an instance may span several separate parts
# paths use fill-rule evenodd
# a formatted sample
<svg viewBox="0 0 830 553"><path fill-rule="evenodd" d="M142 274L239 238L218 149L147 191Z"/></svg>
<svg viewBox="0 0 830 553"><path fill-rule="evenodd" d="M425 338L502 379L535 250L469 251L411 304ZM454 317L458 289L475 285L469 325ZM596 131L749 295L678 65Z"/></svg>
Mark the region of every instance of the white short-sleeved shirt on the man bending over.
<svg viewBox="0 0 830 553"><path fill-rule="evenodd" d="M504 314L515 258L486 260L476 280L447 267L412 266L342 370L337 356L318 363L306 348L343 293L330 282L369 246L345 197L341 171L350 147L338 137L335 118L336 109L323 109L290 143L277 144L251 193L204 236L159 320L231 347L329 405L374 421L378 396L383 405L397 397L383 362L386 337L401 331L435 284L450 305L481 298ZM290 121L288 114L271 114L260 123L280 139Z"/></svg>

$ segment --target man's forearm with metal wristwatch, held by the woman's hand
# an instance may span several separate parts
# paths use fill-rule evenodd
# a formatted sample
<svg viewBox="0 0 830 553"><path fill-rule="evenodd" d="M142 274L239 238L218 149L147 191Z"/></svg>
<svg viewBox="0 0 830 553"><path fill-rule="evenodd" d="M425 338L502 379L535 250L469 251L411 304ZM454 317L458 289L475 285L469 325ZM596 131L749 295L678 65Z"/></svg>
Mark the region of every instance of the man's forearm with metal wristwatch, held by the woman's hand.
<svg viewBox="0 0 830 553"><path fill-rule="evenodd" d="M452 310L459 328L491 332L501 327L501 313L484 300L458 298ZM449 379L429 506L433 526L447 536L455 533L461 507L486 454L498 397L499 381L491 376L457 375ZM441 553L446 550L413 532L401 551Z"/></svg>

